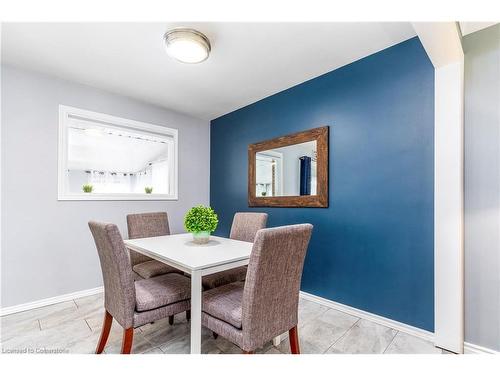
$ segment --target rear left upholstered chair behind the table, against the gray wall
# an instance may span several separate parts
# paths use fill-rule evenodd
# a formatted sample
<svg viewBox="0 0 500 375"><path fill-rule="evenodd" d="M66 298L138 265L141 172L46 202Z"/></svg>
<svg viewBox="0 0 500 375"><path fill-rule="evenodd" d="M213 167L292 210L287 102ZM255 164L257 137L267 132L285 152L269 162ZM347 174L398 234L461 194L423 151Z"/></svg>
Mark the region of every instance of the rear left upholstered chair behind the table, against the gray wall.
<svg viewBox="0 0 500 375"><path fill-rule="evenodd" d="M166 212L147 212L127 215L128 238L167 236L170 234ZM177 268L154 260L146 255L129 249L130 262L135 278L149 279L166 273L182 273Z"/></svg>

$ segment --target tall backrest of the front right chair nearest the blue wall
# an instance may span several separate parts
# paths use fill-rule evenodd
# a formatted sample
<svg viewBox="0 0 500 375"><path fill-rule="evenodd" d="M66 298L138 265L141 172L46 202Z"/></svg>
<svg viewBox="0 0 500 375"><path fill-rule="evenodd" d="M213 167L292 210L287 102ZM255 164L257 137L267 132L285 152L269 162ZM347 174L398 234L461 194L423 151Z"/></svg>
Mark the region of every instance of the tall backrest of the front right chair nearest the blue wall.
<svg viewBox="0 0 500 375"><path fill-rule="evenodd" d="M300 280L312 228L299 224L257 232L242 300L247 349L297 325Z"/></svg>

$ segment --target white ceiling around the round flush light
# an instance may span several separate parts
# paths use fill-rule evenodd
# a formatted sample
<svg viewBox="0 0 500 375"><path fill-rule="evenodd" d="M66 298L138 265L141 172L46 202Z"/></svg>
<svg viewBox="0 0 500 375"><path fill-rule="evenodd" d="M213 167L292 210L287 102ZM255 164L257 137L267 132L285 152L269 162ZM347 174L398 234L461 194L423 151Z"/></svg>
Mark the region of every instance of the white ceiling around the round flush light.
<svg viewBox="0 0 500 375"><path fill-rule="evenodd" d="M163 34L211 41L201 64ZM213 119L415 36L410 23L4 23L2 61Z"/></svg>

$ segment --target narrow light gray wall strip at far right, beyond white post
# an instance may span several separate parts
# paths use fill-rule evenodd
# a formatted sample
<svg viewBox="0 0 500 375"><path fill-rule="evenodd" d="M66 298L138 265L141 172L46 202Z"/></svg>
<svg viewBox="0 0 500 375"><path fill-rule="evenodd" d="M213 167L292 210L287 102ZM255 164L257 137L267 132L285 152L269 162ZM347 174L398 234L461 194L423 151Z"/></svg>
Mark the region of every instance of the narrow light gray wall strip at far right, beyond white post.
<svg viewBox="0 0 500 375"><path fill-rule="evenodd" d="M500 25L465 51L465 341L500 351Z"/></svg>

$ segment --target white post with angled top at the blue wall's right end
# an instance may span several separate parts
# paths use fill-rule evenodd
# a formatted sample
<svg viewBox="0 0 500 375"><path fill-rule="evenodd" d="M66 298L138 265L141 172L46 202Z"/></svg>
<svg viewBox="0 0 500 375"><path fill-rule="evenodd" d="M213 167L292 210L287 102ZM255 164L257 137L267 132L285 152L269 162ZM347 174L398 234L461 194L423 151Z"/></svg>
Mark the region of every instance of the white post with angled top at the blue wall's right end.
<svg viewBox="0 0 500 375"><path fill-rule="evenodd" d="M435 69L434 344L464 348L464 54L456 22L413 23Z"/></svg>

